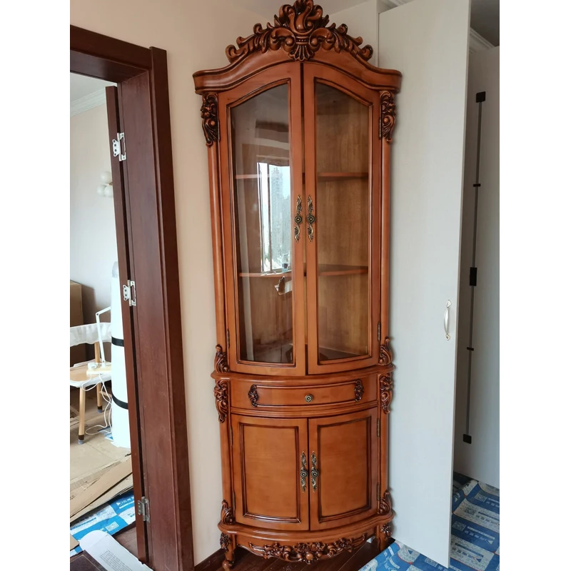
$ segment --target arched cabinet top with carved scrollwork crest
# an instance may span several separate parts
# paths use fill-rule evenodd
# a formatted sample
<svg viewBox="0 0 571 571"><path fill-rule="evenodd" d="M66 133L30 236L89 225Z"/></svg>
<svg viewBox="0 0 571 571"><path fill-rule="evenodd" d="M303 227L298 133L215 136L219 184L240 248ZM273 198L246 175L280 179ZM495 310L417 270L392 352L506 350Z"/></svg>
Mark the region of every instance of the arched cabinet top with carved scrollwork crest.
<svg viewBox="0 0 571 571"><path fill-rule="evenodd" d="M361 44L363 39L350 36L345 24L329 24L329 16L313 0L295 0L281 6L273 24L256 24L251 36L228 46L228 66L193 74L194 86L198 94L226 91L263 69L298 61L339 69L370 89L397 92L400 71L370 65L373 48Z"/></svg>

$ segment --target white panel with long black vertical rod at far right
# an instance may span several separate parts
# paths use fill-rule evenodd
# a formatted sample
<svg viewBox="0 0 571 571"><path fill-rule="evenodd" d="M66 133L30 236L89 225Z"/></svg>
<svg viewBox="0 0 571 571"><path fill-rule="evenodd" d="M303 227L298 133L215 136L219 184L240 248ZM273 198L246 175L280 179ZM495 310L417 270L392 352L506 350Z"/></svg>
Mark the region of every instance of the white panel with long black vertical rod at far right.
<svg viewBox="0 0 571 571"><path fill-rule="evenodd" d="M468 340L470 323L469 272L472 265L474 188L477 148L475 94L482 103L480 192L477 206L470 435L463 442L466 421ZM465 184L454 469L487 484L500 486L500 48L470 54L466 118Z"/></svg>

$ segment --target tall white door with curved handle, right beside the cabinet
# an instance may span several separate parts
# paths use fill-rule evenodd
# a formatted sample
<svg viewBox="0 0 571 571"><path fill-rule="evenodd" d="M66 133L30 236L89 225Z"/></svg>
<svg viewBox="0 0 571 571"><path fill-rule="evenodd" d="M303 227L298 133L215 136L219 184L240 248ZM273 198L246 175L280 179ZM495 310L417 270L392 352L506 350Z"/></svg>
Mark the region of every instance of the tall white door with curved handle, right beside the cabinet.
<svg viewBox="0 0 571 571"><path fill-rule="evenodd" d="M390 191L393 537L446 567L469 9L469 0L414 0L379 15L378 65L403 73Z"/></svg>

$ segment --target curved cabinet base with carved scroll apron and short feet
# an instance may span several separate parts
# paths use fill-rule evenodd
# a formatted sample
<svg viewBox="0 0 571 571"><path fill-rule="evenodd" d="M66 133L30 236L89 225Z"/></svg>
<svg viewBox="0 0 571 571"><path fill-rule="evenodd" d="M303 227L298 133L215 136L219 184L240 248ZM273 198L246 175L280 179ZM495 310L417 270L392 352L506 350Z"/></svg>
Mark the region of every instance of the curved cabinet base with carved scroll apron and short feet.
<svg viewBox="0 0 571 571"><path fill-rule="evenodd" d="M336 527L332 530L306 532L272 532L245 525L226 525L220 522L221 547L226 560L226 571L233 565L234 550L244 547L264 559L276 557L295 563L315 563L327 560L343 552L353 552L369 537L376 536L383 550L390 540L393 513L368 517L355 525Z"/></svg>

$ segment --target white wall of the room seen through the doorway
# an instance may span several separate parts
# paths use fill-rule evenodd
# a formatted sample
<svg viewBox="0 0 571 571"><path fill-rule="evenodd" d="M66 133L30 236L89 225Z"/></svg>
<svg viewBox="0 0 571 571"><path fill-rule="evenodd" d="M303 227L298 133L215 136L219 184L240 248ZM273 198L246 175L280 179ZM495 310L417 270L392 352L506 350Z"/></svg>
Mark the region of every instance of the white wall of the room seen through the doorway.
<svg viewBox="0 0 571 571"><path fill-rule="evenodd" d="M95 323L96 311L111 305L117 260L113 198L96 192L101 173L111 171L105 105L70 118L70 167L69 277L84 286L85 323Z"/></svg>

